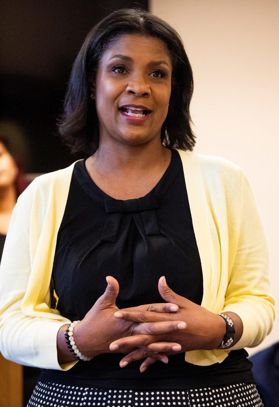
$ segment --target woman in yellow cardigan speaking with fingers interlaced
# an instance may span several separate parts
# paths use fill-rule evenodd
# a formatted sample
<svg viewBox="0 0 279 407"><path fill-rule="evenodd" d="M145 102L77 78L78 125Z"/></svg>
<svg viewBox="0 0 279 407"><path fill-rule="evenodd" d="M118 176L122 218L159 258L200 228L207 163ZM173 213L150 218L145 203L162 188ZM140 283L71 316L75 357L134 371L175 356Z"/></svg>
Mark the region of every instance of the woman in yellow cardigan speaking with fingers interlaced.
<svg viewBox="0 0 279 407"><path fill-rule="evenodd" d="M274 318L266 238L241 169L191 153L192 89L149 13L85 39L60 131L89 156L20 197L1 265L1 349L43 368L29 406L262 406L243 347Z"/></svg>

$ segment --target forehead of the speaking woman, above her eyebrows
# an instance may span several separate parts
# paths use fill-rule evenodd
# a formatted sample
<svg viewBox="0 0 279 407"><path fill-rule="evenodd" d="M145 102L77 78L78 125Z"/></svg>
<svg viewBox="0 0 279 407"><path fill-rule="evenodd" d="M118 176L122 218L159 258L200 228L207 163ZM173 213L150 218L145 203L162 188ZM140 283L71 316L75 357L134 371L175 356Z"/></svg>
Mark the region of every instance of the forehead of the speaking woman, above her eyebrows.
<svg viewBox="0 0 279 407"><path fill-rule="evenodd" d="M105 50L101 62L109 61L115 55L124 55L132 61L165 61L172 67L167 46L158 38L139 34L125 34L115 39Z"/></svg>

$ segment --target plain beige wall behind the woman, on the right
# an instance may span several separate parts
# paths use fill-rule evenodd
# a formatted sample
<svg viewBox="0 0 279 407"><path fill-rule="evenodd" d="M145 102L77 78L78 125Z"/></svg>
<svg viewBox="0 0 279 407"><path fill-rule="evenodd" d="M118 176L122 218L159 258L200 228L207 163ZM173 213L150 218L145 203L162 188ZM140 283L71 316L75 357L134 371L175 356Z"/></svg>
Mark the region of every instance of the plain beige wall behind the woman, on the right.
<svg viewBox="0 0 279 407"><path fill-rule="evenodd" d="M195 151L240 165L257 198L270 245L279 340L279 1L150 0L181 35L194 71Z"/></svg>

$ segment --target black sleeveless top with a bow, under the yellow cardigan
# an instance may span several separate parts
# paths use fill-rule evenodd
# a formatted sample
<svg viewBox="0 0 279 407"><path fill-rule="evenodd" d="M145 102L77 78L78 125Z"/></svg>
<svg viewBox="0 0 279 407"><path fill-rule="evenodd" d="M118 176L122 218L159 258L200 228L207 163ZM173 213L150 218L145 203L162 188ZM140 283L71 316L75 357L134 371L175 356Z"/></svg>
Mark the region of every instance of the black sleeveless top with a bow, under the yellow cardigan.
<svg viewBox="0 0 279 407"><path fill-rule="evenodd" d="M57 236L52 278L57 309L70 320L82 319L107 286L120 285L121 308L164 302L158 280L201 304L203 273L179 153L158 184L144 197L117 200L92 181L85 160L74 166L63 220ZM66 372L43 370L41 380L85 387L183 389L253 382L245 350L231 351L222 363L201 367L184 353L157 361L140 373L142 361L120 368L124 354L100 354Z"/></svg>

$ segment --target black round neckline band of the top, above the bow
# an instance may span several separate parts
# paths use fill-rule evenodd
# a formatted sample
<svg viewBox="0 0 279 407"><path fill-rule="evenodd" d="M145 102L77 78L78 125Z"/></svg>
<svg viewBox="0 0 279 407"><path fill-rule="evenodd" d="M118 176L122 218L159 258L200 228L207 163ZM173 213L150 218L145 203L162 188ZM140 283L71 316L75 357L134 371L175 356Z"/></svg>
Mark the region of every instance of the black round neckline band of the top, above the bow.
<svg viewBox="0 0 279 407"><path fill-rule="evenodd" d="M168 188L171 186L171 184L174 182L174 179L177 177L179 170L182 167L182 162L181 158L179 155L179 152L175 149L170 149L171 150L171 159L170 159L170 164L166 168L166 171L163 173L157 184L144 196L150 196L150 195L156 195L158 198L160 198ZM122 201L122 199L116 199L105 193L102 189L100 189L93 179L90 177L86 166L85 166L85 160L87 158L84 158L81 161L76 162L74 166L74 171L73 175L76 177L78 183L81 185L83 190L91 197L95 202L97 202L99 205L105 207L105 199L112 199L115 201ZM138 197L138 198L142 198ZM137 198L137 199L138 199ZM130 199L126 199L124 201L129 201Z"/></svg>

